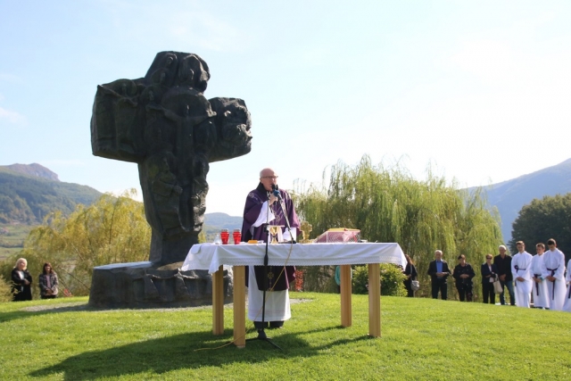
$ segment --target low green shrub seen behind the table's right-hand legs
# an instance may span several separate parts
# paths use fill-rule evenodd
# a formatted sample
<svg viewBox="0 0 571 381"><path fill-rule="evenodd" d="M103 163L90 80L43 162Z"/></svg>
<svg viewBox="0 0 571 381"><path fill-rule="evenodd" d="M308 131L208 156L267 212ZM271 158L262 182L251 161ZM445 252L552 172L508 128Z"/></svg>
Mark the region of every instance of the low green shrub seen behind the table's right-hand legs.
<svg viewBox="0 0 571 381"><path fill-rule="evenodd" d="M401 268L392 263L381 263L381 294L400 296L406 294L402 283L405 279ZM368 266L355 266L352 280L353 294L368 294Z"/></svg>

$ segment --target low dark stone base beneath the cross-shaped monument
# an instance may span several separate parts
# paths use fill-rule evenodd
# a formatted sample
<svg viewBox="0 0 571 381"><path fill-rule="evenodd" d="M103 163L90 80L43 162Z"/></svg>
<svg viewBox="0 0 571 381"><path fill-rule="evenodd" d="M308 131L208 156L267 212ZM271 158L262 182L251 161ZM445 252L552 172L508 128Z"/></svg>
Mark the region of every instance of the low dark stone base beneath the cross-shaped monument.
<svg viewBox="0 0 571 381"><path fill-rule="evenodd" d="M183 262L114 263L93 269L89 306L95 308L195 307L212 304L208 270L182 271ZM232 269L224 268L224 302L232 302Z"/></svg>

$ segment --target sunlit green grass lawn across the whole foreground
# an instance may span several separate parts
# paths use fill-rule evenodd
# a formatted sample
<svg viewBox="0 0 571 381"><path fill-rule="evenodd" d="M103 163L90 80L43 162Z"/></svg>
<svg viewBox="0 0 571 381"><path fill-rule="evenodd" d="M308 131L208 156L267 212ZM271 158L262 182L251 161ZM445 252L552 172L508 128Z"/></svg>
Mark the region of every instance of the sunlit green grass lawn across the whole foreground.
<svg viewBox="0 0 571 381"><path fill-rule="evenodd" d="M553 380L571 377L568 312L383 296L382 337L369 338L368 298L293 293L293 319L263 341L211 335L211 307L87 309L87 298L0 304L1 379ZM248 337L256 337L248 321Z"/></svg>

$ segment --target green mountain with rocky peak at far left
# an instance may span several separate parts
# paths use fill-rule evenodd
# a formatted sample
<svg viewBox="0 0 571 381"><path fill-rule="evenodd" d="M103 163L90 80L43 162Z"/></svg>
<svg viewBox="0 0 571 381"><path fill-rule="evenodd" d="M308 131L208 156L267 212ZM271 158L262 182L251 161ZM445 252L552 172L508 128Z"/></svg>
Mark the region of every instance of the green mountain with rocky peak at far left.
<svg viewBox="0 0 571 381"><path fill-rule="evenodd" d="M41 223L46 214L69 214L78 203L90 205L102 194L89 186L64 183L39 164L0 166L0 223Z"/></svg>

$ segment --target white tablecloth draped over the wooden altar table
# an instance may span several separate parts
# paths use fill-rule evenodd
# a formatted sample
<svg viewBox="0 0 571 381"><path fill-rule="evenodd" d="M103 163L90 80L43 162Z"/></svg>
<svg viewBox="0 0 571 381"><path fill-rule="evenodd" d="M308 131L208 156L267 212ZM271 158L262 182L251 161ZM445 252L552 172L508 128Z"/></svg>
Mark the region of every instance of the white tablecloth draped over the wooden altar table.
<svg viewBox="0 0 571 381"><path fill-rule="evenodd" d="M182 270L208 269L213 274L219 266L263 265L266 244L194 244ZM289 256L289 258L288 258ZM404 269L407 260L399 244L269 244L270 266L349 265L394 263Z"/></svg>

